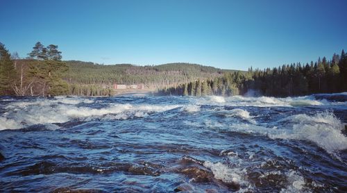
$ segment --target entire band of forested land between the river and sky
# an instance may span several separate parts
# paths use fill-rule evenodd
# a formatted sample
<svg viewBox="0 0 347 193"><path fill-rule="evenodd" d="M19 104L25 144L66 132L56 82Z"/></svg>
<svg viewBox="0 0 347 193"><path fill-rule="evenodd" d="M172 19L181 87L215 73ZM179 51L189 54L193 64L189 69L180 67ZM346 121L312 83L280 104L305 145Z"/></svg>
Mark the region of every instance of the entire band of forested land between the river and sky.
<svg viewBox="0 0 347 193"><path fill-rule="evenodd" d="M292 97L347 91L347 56L334 53L306 64L247 72L189 63L137 66L62 61L58 46L37 42L28 58L10 54L0 43L0 95L110 97L130 93L157 96L207 95ZM114 89L116 84L142 84L142 89Z"/></svg>

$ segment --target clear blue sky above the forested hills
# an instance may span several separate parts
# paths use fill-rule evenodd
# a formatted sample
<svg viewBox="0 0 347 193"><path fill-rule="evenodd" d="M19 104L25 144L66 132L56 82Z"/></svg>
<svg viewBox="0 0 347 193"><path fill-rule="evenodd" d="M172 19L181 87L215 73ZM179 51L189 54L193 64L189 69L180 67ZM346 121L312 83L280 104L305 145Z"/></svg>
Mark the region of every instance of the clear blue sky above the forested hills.
<svg viewBox="0 0 347 193"><path fill-rule="evenodd" d="M0 42L23 58L40 41L63 60L247 69L347 49L345 0L0 0L0 17Z"/></svg>

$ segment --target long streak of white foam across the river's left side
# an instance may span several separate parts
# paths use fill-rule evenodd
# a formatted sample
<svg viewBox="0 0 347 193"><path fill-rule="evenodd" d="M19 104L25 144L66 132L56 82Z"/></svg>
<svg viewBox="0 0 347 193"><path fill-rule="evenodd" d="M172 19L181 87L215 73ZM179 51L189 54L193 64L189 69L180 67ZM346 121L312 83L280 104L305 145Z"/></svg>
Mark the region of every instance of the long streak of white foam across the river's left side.
<svg viewBox="0 0 347 193"><path fill-rule="evenodd" d="M87 101L85 101L87 100ZM150 112L164 112L177 105L131 105L112 104L106 108L77 107L77 103L91 103L88 99L69 99L58 97L57 99L37 99L37 101L24 101L10 103L6 106L6 112L0 117L1 129L24 128L35 124L65 123L71 119L90 120L93 117L103 119L128 119L130 117L146 117ZM110 115L108 117L103 117Z"/></svg>

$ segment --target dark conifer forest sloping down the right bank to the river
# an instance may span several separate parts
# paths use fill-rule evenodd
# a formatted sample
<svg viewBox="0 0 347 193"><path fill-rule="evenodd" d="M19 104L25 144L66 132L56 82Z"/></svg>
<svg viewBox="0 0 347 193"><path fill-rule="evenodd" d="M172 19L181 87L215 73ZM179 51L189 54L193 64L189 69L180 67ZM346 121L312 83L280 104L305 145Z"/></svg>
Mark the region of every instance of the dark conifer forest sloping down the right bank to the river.
<svg viewBox="0 0 347 193"><path fill-rule="evenodd" d="M263 70L252 67L246 73L228 72L221 77L203 78L167 87L160 95L232 96L253 91L255 95L273 97L300 96L314 93L347 91L347 55L336 53L302 65L300 62Z"/></svg>

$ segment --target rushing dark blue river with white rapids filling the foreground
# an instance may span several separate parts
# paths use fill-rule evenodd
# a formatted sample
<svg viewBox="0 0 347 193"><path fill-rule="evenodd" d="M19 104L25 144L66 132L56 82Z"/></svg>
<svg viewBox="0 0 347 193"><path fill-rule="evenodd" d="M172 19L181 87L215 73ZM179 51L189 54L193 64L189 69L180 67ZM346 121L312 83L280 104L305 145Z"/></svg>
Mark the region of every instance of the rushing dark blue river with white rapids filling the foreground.
<svg viewBox="0 0 347 193"><path fill-rule="evenodd" d="M1 192L346 192L347 93L0 98Z"/></svg>

